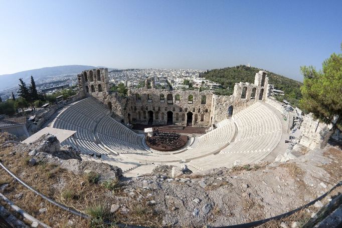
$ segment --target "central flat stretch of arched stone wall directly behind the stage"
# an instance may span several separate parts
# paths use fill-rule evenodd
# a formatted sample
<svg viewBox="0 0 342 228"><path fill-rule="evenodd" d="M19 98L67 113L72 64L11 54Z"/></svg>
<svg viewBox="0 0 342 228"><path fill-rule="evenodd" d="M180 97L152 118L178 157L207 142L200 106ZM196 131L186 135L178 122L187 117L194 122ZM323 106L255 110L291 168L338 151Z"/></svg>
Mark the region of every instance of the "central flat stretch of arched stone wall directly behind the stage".
<svg viewBox="0 0 342 228"><path fill-rule="evenodd" d="M169 91L155 89L153 85L131 89L128 94L127 118L129 115L132 123L140 124L186 126L188 122L193 126L209 126L212 95L210 91ZM149 122L151 115L153 121Z"/></svg>

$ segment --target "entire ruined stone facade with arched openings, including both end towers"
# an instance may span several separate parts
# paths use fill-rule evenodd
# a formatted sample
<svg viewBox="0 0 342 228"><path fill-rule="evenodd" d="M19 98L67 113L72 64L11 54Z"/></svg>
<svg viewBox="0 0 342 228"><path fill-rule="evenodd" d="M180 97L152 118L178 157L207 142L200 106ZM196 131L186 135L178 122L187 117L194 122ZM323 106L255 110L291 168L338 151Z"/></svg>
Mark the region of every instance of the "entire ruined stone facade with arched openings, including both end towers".
<svg viewBox="0 0 342 228"><path fill-rule="evenodd" d="M217 96L212 91L156 89L150 77L144 88L131 89L127 97L121 98L109 91L108 69L103 68L83 71L78 80L80 93L107 105L116 120L153 125L208 127L255 101L265 101L268 88L265 71L256 73L254 84L236 83L232 96Z"/></svg>

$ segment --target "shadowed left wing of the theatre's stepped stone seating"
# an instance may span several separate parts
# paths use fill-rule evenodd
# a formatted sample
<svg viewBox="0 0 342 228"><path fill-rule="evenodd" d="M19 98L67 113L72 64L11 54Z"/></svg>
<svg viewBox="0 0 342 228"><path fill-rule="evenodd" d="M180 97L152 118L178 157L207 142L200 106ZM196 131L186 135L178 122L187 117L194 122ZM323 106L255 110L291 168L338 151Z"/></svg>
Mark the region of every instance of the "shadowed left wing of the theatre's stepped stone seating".
<svg viewBox="0 0 342 228"><path fill-rule="evenodd" d="M62 145L79 148L84 154L148 153L142 146L143 136L108 116L109 113L105 105L89 97L63 111L53 127L77 131L74 138L68 138Z"/></svg>

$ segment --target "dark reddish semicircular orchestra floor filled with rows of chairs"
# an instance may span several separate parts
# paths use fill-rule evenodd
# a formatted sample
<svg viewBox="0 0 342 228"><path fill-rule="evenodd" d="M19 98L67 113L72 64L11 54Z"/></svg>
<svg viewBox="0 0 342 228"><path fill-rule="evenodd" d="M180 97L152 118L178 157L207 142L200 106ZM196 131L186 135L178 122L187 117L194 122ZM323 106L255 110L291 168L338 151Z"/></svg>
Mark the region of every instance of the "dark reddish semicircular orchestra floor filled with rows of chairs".
<svg viewBox="0 0 342 228"><path fill-rule="evenodd" d="M183 148L188 142L188 136L178 133L153 131L151 137L145 137L146 144L158 151L175 151Z"/></svg>

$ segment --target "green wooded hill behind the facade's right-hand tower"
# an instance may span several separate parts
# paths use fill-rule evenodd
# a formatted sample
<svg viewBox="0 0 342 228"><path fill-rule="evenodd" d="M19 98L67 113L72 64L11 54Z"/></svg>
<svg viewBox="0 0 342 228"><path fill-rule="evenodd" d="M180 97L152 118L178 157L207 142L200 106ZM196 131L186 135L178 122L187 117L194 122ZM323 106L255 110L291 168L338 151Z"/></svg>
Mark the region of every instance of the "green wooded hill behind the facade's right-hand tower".
<svg viewBox="0 0 342 228"><path fill-rule="evenodd" d="M224 86L224 88L228 87L228 90L225 89L216 91L217 94L231 95L233 94L235 83L254 83L255 73L259 72L259 70L263 69L240 65L235 67L210 70L203 73L201 77L209 79L213 82L220 83ZM270 84L273 84L276 89L285 92L285 96L276 97L277 100L285 99L294 106L298 105L298 100L301 98L300 86L303 85L301 82L286 78L282 75L278 75L269 71L267 71L267 76L269 78Z"/></svg>

